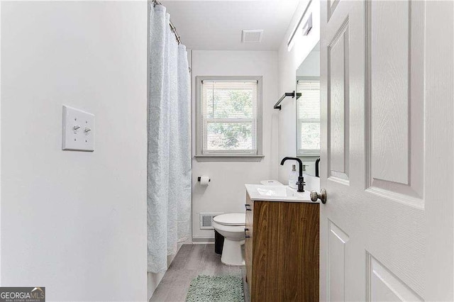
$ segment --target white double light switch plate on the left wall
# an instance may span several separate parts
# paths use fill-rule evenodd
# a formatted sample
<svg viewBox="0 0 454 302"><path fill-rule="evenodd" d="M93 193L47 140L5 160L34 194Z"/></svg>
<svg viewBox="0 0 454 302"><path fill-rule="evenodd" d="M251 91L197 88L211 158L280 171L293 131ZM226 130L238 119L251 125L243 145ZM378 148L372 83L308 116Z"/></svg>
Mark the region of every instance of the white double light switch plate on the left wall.
<svg viewBox="0 0 454 302"><path fill-rule="evenodd" d="M62 150L94 151L94 115L63 105Z"/></svg>

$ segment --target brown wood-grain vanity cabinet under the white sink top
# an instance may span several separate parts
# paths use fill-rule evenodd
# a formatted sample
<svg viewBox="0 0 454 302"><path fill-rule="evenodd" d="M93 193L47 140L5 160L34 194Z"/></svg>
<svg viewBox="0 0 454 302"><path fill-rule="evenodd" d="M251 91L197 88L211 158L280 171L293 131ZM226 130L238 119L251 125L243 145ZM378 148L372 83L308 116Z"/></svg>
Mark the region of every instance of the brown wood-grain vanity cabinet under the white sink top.
<svg viewBox="0 0 454 302"><path fill-rule="evenodd" d="M251 302L319 301L319 203L251 201L245 264Z"/></svg>

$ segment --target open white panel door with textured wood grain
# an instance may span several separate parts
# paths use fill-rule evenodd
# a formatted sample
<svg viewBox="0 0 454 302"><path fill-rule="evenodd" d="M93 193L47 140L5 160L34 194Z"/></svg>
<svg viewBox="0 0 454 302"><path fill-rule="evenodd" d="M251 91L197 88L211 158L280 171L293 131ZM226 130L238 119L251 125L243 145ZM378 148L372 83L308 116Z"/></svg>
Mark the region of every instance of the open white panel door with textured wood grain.
<svg viewBox="0 0 454 302"><path fill-rule="evenodd" d="M321 3L321 301L453 301L454 1Z"/></svg>

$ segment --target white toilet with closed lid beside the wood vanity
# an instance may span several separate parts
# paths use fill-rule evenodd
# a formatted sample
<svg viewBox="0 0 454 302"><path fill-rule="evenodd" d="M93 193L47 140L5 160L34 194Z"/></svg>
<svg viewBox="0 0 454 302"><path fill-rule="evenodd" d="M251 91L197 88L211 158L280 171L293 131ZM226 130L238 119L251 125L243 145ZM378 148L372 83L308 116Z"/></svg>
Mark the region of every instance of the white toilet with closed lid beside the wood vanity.
<svg viewBox="0 0 454 302"><path fill-rule="evenodd" d="M214 229L224 237L221 262L226 265L244 265L243 247L245 213L228 213L213 218Z"/></svg>

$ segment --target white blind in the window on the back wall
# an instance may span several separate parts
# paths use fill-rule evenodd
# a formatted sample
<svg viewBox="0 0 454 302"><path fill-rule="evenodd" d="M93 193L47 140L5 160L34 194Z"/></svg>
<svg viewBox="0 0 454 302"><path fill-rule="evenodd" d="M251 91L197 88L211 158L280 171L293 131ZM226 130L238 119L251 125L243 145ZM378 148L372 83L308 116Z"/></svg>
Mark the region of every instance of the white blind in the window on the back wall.
<svg viewBox="0 0 454 302"><path fill-rule="evenodd" d="M201 82L202 155L257 155L257 81Z"/></svg>

